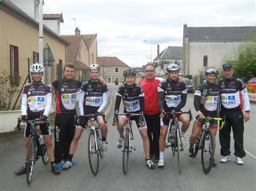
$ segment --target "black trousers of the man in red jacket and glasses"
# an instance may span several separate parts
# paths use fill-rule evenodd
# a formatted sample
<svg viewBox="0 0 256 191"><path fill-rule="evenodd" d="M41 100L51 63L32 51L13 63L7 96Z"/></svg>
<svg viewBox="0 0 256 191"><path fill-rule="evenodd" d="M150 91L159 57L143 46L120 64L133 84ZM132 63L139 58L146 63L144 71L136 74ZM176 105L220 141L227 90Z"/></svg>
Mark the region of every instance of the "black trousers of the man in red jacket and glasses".
<svg viewBox="0 0 256 191"><path fill-rule="evenodd" d="M159 137L160 137L160 114L144 114L147 124L147 136L150 140L150 153L159 155Z"/></svg>

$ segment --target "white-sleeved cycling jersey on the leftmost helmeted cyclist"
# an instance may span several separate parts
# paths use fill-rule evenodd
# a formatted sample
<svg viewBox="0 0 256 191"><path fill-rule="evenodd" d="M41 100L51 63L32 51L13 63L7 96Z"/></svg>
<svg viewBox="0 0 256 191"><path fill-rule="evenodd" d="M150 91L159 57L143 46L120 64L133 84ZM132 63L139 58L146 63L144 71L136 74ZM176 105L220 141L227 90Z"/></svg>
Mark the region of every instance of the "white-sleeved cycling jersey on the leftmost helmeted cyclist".
<svg viewBox="0 0 256 191"><path fill-rule="evenodd" d="M51 89L42 82L33 82L24 88L22 115L43 114L48 116L51 108Z"/></svg>

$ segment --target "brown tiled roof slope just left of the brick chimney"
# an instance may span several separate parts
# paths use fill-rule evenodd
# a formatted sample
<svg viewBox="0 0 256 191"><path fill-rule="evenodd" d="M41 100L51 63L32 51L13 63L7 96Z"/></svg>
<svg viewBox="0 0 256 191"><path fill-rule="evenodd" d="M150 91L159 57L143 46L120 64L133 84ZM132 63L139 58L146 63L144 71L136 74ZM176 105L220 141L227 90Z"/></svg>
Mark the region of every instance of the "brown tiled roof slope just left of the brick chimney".
<svg viewBox="0 0 256 191"><path fill-rule="evenodd" d="M82 40L82 36L62 35L61 37L70 43L66 51L66 63L73 63L76 58L80 41Z"/></svg>

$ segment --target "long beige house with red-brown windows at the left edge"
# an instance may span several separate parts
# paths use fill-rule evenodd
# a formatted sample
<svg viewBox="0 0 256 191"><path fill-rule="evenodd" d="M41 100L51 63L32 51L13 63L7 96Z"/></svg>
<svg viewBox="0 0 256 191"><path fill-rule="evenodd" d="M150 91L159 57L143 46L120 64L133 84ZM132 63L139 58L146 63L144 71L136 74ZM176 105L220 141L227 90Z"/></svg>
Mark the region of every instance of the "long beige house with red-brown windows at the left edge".
<svg viewBox="0 0 256 191"><path fill-rule="evenodd" d="M0 72L21 78L15 85L22 88L29 66L38 62L38 2L36 0L0 1ZM48 27L43 27L43 44L50 46L55 62L49 67L49 81L57 79L57 68L65 64L68 41ZM29 60L28 60L29 59ZM45 75L44 75L45 76Z"/></svg>

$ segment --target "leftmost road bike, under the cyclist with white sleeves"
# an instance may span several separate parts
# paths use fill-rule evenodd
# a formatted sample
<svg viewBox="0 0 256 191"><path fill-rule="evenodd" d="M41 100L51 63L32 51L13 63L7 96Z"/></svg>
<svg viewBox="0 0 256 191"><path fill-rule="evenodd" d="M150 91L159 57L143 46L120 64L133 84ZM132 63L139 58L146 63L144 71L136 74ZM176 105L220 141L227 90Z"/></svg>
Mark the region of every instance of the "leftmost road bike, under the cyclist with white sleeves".
<svg viewBox="0 0 256 191"><path fill-rule="evenodd" d="M20 124L21 124L21 118L18 118L18 124L17 128L18 130L21 130ZM36 161L40 157L42 157L42 161L45 165L49 162L49 157L47 154L47 148L44 143L44 138L42 135L39 135L37 133L36 128L39 126L39 119L33 119L33 120L27 120L27 123L30 123L31 125L31 133L30 133L30 143L28 148L28 156L27 156L27 162L28 165L26 167L26 182L28 185L30 185L31 179L32 179L32 173L33 173L33 166L36 164ZM49 122L47 125L49 125Z"/></svg>

